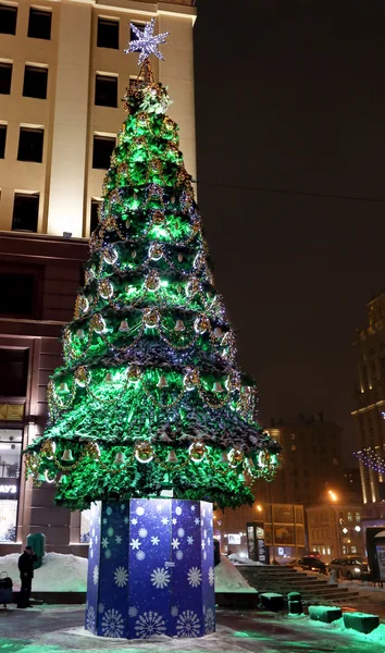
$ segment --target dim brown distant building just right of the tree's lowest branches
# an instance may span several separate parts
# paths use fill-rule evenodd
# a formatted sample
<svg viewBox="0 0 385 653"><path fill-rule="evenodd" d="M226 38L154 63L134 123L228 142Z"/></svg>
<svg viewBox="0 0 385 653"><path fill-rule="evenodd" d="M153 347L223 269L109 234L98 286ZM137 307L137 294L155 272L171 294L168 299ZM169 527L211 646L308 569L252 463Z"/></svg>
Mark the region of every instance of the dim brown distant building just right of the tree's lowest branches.
<svg viewBox="0 0 385 653"><path fill-rule="evenodd" d="M282 465L272 483L258 481L258 502L311 505L327 500L327 490L343 490L341 429L324 419L300 415L272 420L268 429L282 446Z"/></svg>

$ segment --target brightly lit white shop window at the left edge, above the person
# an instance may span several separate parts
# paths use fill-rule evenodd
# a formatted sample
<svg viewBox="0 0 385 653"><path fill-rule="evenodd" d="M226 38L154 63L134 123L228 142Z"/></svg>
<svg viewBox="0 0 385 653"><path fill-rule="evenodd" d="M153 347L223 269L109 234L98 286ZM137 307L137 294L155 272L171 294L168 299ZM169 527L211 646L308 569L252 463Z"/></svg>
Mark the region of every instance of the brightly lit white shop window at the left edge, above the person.
<svg viewBox="0 0 385 653"><path fill-rule="evenodd" d="M15 542L23 431L0 429L0 542Z"/></svg>

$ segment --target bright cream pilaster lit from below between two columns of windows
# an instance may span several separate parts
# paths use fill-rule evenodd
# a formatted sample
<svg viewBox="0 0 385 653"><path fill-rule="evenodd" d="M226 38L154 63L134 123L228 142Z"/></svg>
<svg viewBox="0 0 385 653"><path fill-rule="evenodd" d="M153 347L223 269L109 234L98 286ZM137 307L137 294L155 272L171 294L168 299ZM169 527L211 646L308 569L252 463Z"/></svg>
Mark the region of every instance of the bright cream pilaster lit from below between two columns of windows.
<svg viewBox="0 0 385 653"><path fill-rule="evenodd" d="M83 235L91 5L62 2L47 231Z"/></svg>

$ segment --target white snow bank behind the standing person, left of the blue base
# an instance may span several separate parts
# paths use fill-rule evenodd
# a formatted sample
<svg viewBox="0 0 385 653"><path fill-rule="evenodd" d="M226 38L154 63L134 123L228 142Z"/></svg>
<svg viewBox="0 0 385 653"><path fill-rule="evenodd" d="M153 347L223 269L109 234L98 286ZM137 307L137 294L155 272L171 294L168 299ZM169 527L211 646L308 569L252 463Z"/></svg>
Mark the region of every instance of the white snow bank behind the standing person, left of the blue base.
<svg viewBox="0 0 385 653"><path fill-rule="evenodd" d="M7 571L13 580L13 589L20 589L17 560L20 554L0 556L0 571ZM87 558L62 553L47 553L42 565L35 569L33 591L35 592L86 592Z"/></svg>

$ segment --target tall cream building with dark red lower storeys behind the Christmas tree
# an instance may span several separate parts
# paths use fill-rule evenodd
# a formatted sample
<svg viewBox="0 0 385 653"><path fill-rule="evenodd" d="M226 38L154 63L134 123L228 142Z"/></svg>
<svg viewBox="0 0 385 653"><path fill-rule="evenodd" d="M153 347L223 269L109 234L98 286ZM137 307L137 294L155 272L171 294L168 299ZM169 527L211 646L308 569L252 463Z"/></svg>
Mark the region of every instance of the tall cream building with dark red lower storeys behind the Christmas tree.
<svg viewBox="0 0 385 653"><path fill-rule="evenodd" d="M47 382L125 118L120 100L138 74L123 53L131 22L154 17L170 32L154 75L195 175L194 4L0 0L0 554L39 531L48 550L82 553L79 514L54 507L52 485L24 481L21 452L45 428Z"/></svg>

